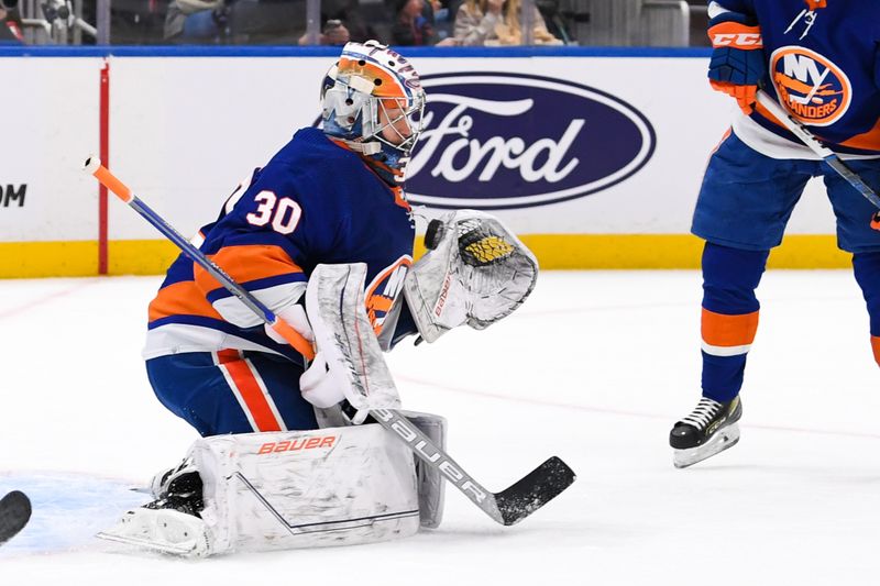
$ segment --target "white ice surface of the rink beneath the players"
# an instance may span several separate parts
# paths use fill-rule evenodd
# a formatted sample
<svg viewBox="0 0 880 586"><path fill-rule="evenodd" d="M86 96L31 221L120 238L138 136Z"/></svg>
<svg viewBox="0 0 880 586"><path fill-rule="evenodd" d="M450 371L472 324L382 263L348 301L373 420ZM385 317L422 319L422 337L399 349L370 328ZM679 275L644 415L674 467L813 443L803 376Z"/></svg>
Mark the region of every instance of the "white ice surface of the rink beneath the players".
<svg viewBox="0 0 880 586"><path fill-rule="evenodd" d="M667 434L700 395L698 274L544 273L508 320L388 360L477 479L498 490L557 454L568 491L513 528L450 489L442 527L408 540L205 561L88 539L196 438L139 355L158 284L0 281L0 491L35 493L3 586L877 583L880 376L848 272L766 275L743 440L685 471Z"/></svg>

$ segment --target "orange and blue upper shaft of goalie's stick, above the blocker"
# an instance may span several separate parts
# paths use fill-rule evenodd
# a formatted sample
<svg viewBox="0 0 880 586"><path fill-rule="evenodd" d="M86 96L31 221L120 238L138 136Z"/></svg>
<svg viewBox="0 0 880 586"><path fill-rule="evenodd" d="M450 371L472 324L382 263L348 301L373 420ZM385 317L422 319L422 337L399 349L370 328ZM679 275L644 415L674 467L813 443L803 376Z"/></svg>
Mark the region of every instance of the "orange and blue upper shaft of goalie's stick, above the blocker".
<svg viewBox="0 0 880 586"><path fill-rule="evenodd" d="M160 214L153 211L146 203L140 200L125 184L119 180L110 170L101 165L100 159L96 156L90 156L86 159L84 170L94 175L98 181L113 192L119 199L125 202L130 208L136 211L141 217L150 222L153 228L162 232L162 234L170 240L173 243L186 254L190 261L201 266L208 272L220 285L223 286L229 292L239 298L248 309L258 316L265 323L272 327L273 330L278 332L287 342L294 346L306 358L315 358L315 350L311 343L302 338L302 335L294 330L288 323L279 319L272 312L263 302L256 297L251 295L244 287L235 283L222 268L217 266L205 253L198 250L191 242L189 242L183 234L180 234L173 225L166 222Z"/></svg>

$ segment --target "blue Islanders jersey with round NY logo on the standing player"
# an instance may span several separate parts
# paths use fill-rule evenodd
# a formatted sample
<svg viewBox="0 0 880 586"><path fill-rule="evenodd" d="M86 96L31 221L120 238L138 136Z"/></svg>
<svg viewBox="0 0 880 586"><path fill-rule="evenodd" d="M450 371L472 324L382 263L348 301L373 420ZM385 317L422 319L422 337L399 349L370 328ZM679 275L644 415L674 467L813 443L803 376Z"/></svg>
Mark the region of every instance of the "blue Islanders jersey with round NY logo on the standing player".
<svg viewBox="0 0 880 586"><path fill-rule="evenodd" d="M769 93L834 150L880 154L880 2L714 3L760 26L768 65L763 86ZM756 108L751 120L800 144L762 107Z"/></svg>

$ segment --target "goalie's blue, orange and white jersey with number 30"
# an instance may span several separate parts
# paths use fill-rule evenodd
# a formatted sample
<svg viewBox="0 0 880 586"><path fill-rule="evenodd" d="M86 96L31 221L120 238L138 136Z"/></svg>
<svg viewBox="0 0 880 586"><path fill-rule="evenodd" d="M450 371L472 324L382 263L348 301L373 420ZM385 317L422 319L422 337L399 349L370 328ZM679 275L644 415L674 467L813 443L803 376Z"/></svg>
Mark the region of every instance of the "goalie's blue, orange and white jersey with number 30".
<svg viewBox="0 0 880 586"><path fill-rule="evenodd" d="M297 132L199 234L200 250L273 311L301 297L318 264L365 263L366 310L376 333L402 290L415 237L402 194L316 129ZM182 254L150 305L144 357L221 349L301 362Z"/></svg>

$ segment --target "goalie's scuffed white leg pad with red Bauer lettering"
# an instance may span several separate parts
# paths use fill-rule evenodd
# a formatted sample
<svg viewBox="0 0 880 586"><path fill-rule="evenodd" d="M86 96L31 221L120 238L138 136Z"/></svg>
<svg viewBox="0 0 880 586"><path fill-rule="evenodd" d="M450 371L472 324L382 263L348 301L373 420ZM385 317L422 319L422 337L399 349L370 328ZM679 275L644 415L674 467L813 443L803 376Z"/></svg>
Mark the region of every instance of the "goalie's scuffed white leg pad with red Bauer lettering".
<svg viewBox="0 0 880 586"><path fill-rule="evenodd" d="M370 543L414 534L411 452L377 424L198 440L200 498L128 511L99 537L179 555ZM191 486L189 487L191 488Z"/></svg>

